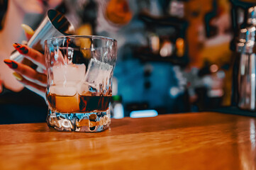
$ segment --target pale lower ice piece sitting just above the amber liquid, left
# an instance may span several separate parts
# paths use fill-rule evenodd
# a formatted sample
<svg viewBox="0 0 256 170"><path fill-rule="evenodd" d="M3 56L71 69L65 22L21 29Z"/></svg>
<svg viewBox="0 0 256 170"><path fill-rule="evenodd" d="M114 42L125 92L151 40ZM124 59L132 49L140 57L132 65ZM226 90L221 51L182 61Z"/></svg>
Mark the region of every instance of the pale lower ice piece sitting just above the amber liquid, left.
<svg viewBox="0 0 256 170"><path fill-rule="evenodd" d="M77 94L76 86L50 86L50 94L57 96L74 96Z"/></svg>

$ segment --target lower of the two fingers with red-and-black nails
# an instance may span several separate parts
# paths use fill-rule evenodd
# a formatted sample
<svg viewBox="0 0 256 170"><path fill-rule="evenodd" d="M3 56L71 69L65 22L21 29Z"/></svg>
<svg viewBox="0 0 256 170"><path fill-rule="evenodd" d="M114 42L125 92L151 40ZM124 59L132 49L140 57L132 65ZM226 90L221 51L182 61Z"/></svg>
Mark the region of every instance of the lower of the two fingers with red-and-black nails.
<svg viewBox="0 0 256 170"><path fill-rule="evenodd" d="M47 77L45 74L36 72L35 69L31 67L21 64L19 62L15 62L13 60L5 59L4 62L15 72L21 74L22 77L25 77L29 81L33 81L35 84L39 84L40 86L46 86Z"/></svg>

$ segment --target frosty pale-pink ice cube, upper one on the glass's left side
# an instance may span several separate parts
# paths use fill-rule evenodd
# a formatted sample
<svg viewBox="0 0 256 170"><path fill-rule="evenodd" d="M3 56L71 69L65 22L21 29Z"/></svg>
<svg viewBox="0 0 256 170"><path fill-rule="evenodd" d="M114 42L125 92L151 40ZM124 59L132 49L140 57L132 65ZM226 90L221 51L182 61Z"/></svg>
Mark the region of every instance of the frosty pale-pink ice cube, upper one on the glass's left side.
<svg viewBox="0 0 256 170"><path fill-rule="evenodd" d="M85 77L84 64L57 64L52 67L55 84L77 84Z"/></svg>

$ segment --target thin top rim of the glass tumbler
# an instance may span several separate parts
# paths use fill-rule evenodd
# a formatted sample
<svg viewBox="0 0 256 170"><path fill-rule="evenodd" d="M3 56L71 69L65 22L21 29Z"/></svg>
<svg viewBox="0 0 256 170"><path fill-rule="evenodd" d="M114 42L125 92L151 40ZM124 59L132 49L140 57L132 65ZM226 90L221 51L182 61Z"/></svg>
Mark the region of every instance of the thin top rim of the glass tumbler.
<svg viewBox="0 0 256 170"><path fill-rule="evenodd" d="M47 40L45 40L45 42L49 42L49 41L52 41L52 40L58 40L58 39L64 39L64 38L71 38L71 39L89 38L89 39L97 39L97 40L111 40L113 42L117 42L113 38L108 38L108 37L104 37L104 36L100 36L100 35L63 35L63 36L48 38Z"/></svg>

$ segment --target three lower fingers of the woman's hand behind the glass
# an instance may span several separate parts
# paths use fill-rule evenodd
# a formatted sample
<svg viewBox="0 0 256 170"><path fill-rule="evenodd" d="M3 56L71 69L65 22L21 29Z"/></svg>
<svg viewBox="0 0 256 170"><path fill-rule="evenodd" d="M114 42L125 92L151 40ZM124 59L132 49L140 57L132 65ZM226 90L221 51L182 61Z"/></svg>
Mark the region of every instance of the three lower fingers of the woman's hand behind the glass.
<svg viewBox="0 0 256 170"><path fill-rule="evenodd" d="M13 47L15 47L16 50L21 53L21 55L26 57L26 59L40 67L43 72L37 72L35 69L29 67L28 65L16 62L14 60L6 59L4 62L11 69L13 69L13 76L16 77L16 79L20 81L21 84L45 98L45 89L47 83L45 56L37 50L28 47L27 45L15 43L13 44Z"/></svg>

